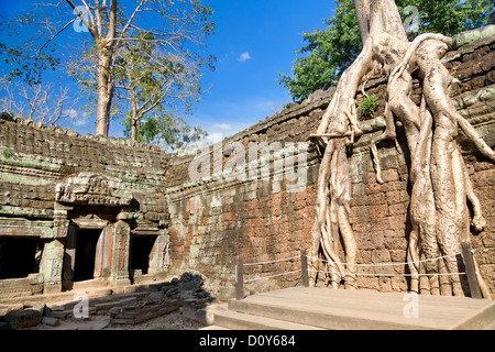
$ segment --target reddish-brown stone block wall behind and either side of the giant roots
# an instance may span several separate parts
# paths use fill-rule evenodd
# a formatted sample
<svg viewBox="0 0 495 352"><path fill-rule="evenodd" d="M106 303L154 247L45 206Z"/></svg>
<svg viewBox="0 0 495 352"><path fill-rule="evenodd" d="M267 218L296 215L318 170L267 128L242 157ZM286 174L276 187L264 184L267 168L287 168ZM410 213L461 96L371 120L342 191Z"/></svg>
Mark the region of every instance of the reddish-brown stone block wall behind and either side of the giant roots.
<svg viewBox="0 0 495 352"><path fill-rule="evenodd" d="M488 30L493 32L494 28ZM479 133L493 147L495 145L495 35L486 29L484 34L469 33L458 36L457 50L444 58L451 74L461 80L452 87L451 97L460 113L475 125ZM484 37L483 37L484 36ZM481 38L480 38L481 37ZM383 142L378 145L384 184L376 183L375 170L370 155L370 141L384 129L383 80L372 80L366 92L381 99L378 111L370 119L362 118L366 132L349 151L353 200L351 223L358 239L361 264L404 263L408 243L408 206L410 184L408 183L409 161L404 132L398 128L398 145ZM221 145L194 155L174 157L167 170L166 195L169 198L172 258L177 270L195 268L207 276L221 278L227 284L234 283L234 265L241 255L245 263L276 261L299 255L300 249L309 249L310 232L315 218L316 183L319 156L309 134L317 130L322 113L333 90L316 92L301 105L266 118L250 129L227 139ZM414 86L413 99L419 103L419 82ZM362 97L358 97L358 101ZM237 142L232 150L229 143ZM276 178L272 157L272 174L268 180L260 177L229 179L220 177L218 163L232 165L239 151L241 160L246 160L245 175L257 167L261 161L251 162L250 143L309 142L307 147L306 187L294 191L292 183L284 174ZM472 234L472 245L483 276L492 292L495 292L495 167L473 146L459 135L465 163L475 194L480 197L487 220L485 230ZM217 151L217 152L216 152ZM245 151L245 156L244 156ZM218 153L218 154L217 154ZM300 154L299 154L300 156ZM200 180L191 180L191 163L207 161L209 172ZM254 163L254 164L253 164ZM202 164L206 165L206 164ZM253 166L255 165L255 166ZM194 167L196 169L196 167ZM260 173L258 173L260 174ZM242 173L241 173L242 175ZM241 177L242 178L242 177ZM277 262L263 266L249 266L246 279L290 272L299 268L298 260ZM366 267L361 273L405 274L407 265L388 267ZM300 274L289 274L274 278L278 285L295 285ZM359 276L360 288L375 290L406 290L408 282L404 277Z"/></svg>

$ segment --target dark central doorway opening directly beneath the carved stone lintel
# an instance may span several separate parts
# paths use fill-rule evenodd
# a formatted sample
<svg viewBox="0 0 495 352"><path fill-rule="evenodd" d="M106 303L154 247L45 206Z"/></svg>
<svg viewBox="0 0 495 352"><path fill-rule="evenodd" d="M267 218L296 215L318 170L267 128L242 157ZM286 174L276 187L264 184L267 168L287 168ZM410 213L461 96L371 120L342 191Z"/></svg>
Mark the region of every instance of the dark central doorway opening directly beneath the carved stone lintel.
<svg viewBox="0 0 495 352"><path fill-rule="evenodd" d="M96 248L100 233L101 230L77 231L74 282L95 278Z"/></svg>

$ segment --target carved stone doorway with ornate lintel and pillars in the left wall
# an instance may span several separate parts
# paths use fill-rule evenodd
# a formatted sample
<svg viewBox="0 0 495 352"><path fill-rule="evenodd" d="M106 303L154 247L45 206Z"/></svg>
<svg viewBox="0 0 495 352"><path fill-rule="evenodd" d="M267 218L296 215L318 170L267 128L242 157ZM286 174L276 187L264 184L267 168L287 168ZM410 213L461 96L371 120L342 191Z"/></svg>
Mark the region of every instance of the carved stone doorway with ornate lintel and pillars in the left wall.
<svg viewBox="0 0 495 352"><path fill-rule="evenodd" d="M95 173L79 173L56 185L53 233L63 251L59 255L56 248L50 257L61 268L45 275L52 292L129 285L133 274L156 279L170 266L170 237L153 212L148 219L141 211L145 196L131 193L118 178Z"/></svg>

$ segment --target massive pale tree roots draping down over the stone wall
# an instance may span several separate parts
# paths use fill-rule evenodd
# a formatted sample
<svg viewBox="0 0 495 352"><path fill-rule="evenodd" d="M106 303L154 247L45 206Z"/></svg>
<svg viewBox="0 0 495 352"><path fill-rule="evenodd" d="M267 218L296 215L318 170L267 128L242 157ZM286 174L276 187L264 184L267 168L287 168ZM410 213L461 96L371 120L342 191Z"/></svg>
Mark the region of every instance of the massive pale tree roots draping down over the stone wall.
<svg viewBox="0 0 495 352"><path fill-rule="evenodd" d="M382 183L376 145L385 139L395 140L395 119L399 120L411 160L411 232L407 251L410 289L431 295L469 295L461 283L463 265L457 254L461 242L470 240L470 226L481 231L486 222L457 145L458 128L483 155L495 161L495 153L457 112L448 96L449 86L455 81L440 59L451 48L452 40L424 34L409 42L393 0L354 3L363 51L342 75L316 134L324 153L310 264L318 267L315 258L321 253L328 261L332 286L339 287L343 282L346 288L355 288L358 245L349 221L352 190L346 146L362 134L355 112L356 91L370 75L380 72L388 78L386 130L372 141L371 151L377 180ZM409 98L414 77L422 80L420 107ZM472 221L468 202L473 207ZM339 243L343 251L339 251ZM481 276L479 280L483 296L490 298Z"/></svg>

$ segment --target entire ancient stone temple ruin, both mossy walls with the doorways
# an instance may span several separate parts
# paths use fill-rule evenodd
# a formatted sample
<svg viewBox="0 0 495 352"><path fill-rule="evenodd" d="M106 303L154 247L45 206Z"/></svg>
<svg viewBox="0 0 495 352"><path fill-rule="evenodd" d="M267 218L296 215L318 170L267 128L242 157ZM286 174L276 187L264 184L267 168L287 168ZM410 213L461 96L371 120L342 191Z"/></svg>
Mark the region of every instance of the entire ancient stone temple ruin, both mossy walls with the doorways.
<svg viewBox="0 0 495 352"><path fill-rule="evenodd" d="M494 48L493 32L475 31L458 36L455 50L443 59L461 81L451 91L452 101L492 147ZM370 141L385 128L385 84L367 82L366 92L382 105L372 117L362 117L364 135L349 151L358 264L404 263L407 256L410 161L403 153L407 146L400 129L397 145L380 145L383 184L376 182L370 154ZM310 245L315 220L320 155L310 134L332 94L316 92L221 144L185 154L165 154L161 147L121 139L81 136L3 114L0 299L59 293L88 282L113 287L160 280L186 270L233 285L239 255L246 263L298 256ZM495 165L462 133L458 139L487 222L481 233L472 231L471 244L495 293ZM191 170L200 177L191 178ZM280 262L250 268L245 275L293 270ZM408 273L407 265L393 271ZM300 282L300 273L294 272L273 282L294 286ZM366 271L385 273L391 268ZM400 275L356 278L360 289L406 292L408 285L407 276Z"/></svg>

